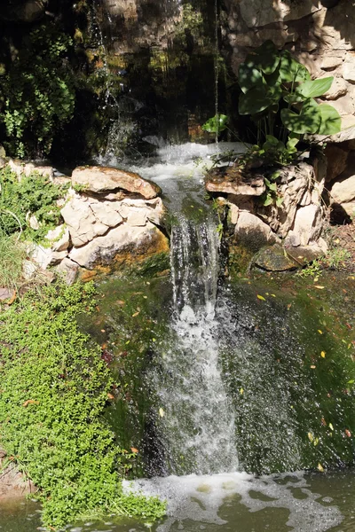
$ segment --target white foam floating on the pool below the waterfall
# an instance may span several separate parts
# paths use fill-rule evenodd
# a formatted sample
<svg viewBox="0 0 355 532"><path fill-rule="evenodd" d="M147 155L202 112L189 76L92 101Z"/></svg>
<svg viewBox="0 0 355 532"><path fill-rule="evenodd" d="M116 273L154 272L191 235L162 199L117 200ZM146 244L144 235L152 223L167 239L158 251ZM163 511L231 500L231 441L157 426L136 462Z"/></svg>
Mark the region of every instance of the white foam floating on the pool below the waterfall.
<svg viewBox="0 0 355 532"><path fill-rule="evenodd" d="M236 507L233 515L247 508L259 512L267 508L288 510L285 526L294 532L326 532L339 525L343 516L336 506L325 506L317 493L312 493L303 473L282 473L255 478L248 473L220 473L211 476L169 476L125 482L127 491L157 496L167 501L168 519L156 528L156 532L169 532L175 523L186 529L184 521L198 523L226 523L218 516L221 507L231 498ZM302 498L294 497L292 491L299 489ZM319 499L319 500L318 500ZM243 532L235 522L236 532ZM188 525L187 525L188 526ZM176 529L176 528L174 528ZM285 528L286 529L286 528Z"/></svg>

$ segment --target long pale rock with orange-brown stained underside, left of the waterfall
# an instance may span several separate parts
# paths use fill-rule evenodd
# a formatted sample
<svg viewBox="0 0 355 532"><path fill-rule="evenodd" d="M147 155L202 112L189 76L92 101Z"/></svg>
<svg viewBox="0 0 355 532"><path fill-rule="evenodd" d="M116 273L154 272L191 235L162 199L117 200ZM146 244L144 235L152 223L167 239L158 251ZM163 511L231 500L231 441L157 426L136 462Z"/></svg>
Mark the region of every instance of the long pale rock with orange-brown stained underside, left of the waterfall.
<svg viewBox="0 0 355 532"><path fill-rule="evenodd" d="M125 261L128 255L134 262L139 257L144 258L168 249L167 239L153 223L148 222L145 227L132 227L122 223L105 236L91 240L86 246L74 247L69 258L83 268L93 270L114 261Z"/></svg>

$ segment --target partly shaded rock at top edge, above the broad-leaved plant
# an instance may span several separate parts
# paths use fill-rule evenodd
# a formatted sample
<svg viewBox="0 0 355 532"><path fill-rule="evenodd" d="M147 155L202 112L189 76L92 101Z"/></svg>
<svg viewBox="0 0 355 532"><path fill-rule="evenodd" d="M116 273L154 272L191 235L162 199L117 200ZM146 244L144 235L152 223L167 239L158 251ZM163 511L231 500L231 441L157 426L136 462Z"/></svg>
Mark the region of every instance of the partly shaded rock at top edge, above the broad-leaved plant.
<svg viewBox="0 0 355 532"><path fill-rule="evenodd" d="M241 0L241 17L248 27L266 26L272 22L298 20L319 7L312 0L302 2L275 2L274 0Z"/></svg>

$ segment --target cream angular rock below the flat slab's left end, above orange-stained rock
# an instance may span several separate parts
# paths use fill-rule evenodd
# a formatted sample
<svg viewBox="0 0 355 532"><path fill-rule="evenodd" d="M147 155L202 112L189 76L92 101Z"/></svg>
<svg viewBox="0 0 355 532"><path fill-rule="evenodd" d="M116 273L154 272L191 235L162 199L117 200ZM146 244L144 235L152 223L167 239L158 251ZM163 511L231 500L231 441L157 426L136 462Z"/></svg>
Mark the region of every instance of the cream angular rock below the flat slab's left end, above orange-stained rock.
<svg viewBox="0 0 355 532"><path fill-rule="evenodd" d="M108 231L109 226L100 222L91 208L95 202L99 204L98 200L89 200L75 195L60 211L67 223L74 246L83 246ZM120 215L119 217L122 219Z"/></svg>

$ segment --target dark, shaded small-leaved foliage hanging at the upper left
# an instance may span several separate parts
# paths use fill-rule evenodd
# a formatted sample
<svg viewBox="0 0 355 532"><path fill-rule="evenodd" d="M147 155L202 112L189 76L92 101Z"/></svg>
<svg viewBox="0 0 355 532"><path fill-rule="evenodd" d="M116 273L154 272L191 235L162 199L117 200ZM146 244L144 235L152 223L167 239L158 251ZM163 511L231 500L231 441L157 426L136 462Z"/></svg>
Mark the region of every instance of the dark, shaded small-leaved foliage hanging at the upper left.
<svg viewBox="0 0 355 532"><path fill-rule="evenodd" d="M0 119L11 154L49 153L55 132L73 116L74 81L65 59L70 45L70 37L54 25L37 27L0 77Z"/></svg>

